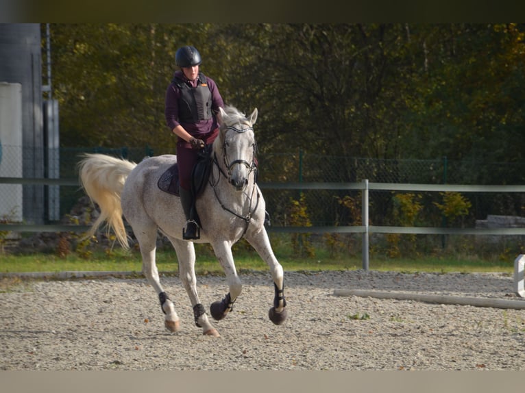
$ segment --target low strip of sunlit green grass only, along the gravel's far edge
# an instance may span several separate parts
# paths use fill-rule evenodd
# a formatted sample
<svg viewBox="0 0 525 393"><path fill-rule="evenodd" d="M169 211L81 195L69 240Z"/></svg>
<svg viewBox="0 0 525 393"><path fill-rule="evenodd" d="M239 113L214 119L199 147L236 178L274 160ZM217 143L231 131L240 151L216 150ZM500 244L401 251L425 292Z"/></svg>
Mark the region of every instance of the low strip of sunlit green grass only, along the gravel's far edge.
<svg viewBox="0 0 525 393"><path fill-rule="evenodd" d="M221 266L209 246L197 244L198 275L222 274ZM361 256L330 257L328 253L317 251L317 256L296 257L290 251L276 251L276 256L286 271L357 270L362 268ZM247 249L234 249L236 268L266 271L267 265L256 253ZM159 251L157 266L160 272L178 272L178 262L174 251ZM476 257L419 257L396 258L370 256L369 269L399 272L513 272L513 260L485 260ZM32 255L0 255L0 272L60 272L60 271L119 271L141 272L141 255L138 251L116 249L110 253L93 253L80 257L71 253L66 257L55 254L37 253Z"/></svg>

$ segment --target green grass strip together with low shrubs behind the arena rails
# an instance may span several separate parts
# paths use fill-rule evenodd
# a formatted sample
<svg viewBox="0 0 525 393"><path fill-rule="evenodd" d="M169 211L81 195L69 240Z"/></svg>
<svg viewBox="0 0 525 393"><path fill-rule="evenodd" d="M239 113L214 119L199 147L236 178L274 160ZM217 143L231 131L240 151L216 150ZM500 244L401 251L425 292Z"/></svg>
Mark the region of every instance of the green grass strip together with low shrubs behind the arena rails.
<svg viewBox="0 0 525 393"><path fill-rule="evenodd" d="M299 244L304 245L300 238ZM309 242L315 257L302 256L294 251L293 237L287 233L271 233L271 245L279 262L286 271L317 272L323 270L358 270L363 267L361 244L352 236L325 238L311 237ZM387 257L389 244L376 242L370 247L369 269L397 272L502 272L513 274L514 259L522 253L520 244L504 242L485 244L472 242L469 237L448 239L443 246L442 239L427 239L416 244L409 243L408 250L400 246L404 255L417 257ZM58 246L57 246L58 248ZM304 253L308 248L304 248ZM80 250L74 253L73 249ZM413 249L411 251L411 249ZM417 251L415 251L417 250ZM267 272L265 262L254 252L245 240L233 247L235 265L239 272L256 270ZM5 272L64 272L64 271L112 271L142 272L141 255L137 249L124 251L119 246L113 250L101 244L90 244L84 249L71 242L66 257L59 257L58 250L50 253L10 255L0 252L0 273ZM82 255L84 254L84 257ZM222 275L223 270L209 244L195 244L197 275ZM160 272L178 274L178 262L171 246L163 246L157 252L157 267Z"/></svg>

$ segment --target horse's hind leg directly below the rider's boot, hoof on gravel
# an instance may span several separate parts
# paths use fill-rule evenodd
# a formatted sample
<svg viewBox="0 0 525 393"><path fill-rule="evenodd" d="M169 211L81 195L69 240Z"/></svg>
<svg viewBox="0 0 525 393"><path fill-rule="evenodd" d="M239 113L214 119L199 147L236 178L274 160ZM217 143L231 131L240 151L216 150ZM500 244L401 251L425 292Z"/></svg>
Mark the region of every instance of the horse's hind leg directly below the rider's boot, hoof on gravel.
<svg viewBox="0 0 525 393"><path fill-rule="evenodd" d="M208 320L206 309L202 305L199 294L197 293L197 277L195 275L195 247L193 242L187 242L171 238L171 244L175 248L177 258L179 261L179 276L182 285L188 297L190 298L191 306L193 307L193 318L195 326L202 328L204 335L212 335L219 337L219 332Z"/></svg>

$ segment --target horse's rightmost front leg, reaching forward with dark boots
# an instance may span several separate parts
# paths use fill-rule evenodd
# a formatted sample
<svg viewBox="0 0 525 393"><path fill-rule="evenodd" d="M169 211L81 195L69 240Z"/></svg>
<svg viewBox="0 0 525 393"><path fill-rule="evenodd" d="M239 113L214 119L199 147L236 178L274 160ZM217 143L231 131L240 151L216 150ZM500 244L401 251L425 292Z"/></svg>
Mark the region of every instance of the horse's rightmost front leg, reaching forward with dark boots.
<svg viewBox="0 0 525 393"><path fill-rule="evenodd" d="M269 309L268 317L276 325L281 325L288 316L286 299L284 298L284 270L271 249L270 240L264 227L248 231L245 239L252 244L255 251L267 263L273 279L273 307Z"/></svg>

